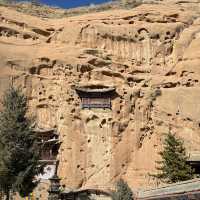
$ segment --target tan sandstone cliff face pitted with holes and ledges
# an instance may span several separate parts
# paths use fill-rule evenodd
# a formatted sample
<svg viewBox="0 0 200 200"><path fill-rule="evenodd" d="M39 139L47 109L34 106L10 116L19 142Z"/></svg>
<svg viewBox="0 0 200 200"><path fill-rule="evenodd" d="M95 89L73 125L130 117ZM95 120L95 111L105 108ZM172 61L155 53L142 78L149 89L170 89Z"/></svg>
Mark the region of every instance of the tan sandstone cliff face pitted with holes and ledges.
<svg viewBox="0 0 200 200"><path fill-rule="evenodd" d="M40 19L0 8L0 94L21 86L37 126L57 131L62 184L156 184L169 129L200 151L199 10L174 0ZM100 86L116 89L112 109L82 109L76 87Z"/></svg>

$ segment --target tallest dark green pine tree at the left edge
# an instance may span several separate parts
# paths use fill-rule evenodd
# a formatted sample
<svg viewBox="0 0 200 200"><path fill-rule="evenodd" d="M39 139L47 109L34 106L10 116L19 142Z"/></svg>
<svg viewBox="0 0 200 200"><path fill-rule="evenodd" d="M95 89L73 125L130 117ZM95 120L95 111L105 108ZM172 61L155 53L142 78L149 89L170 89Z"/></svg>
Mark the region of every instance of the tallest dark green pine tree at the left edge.
<svg viewBox="0 0 200 200"><path fill-rule="evenodd" d="M31 121L26 117L27 98L11 87L3 98L0 113L0 186L7 194L16 191L27 196L36 186L39 147Z"/></svg>

